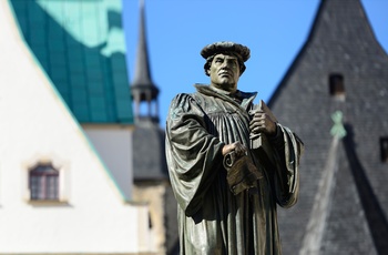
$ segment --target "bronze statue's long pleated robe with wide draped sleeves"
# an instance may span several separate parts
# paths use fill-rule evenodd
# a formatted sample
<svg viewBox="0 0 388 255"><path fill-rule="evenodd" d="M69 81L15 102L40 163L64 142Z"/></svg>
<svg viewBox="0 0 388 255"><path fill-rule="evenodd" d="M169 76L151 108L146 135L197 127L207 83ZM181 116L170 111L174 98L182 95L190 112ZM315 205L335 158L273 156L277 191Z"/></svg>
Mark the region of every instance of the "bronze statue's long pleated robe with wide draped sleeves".
<svg viewBox="0 0 388 255"><path fill-rule="evenodd" d="M303 143L277 123L273 142L276 166L261 164L255 188L231 192L222 149L239 141L249 147L249 115L256 93L237 91L234 100L210 85L176 95L166 121L166 159L178 204L181 254L282 254L276 206L293 206L298 196ZM280 141L280 142L279 142Z"/></svg>

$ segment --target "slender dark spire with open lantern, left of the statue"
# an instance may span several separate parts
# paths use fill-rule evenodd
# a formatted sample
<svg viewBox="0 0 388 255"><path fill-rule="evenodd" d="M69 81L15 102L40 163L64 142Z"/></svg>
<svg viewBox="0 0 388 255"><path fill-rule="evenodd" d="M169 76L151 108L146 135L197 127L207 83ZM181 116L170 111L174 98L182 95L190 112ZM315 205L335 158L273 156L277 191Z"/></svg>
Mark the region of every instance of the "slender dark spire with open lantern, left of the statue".
<svg viewBox="0 0 388 255"><path fill-rule="evenodd" d="M135 103L135 118L150 119L159 122L159 105L157 94L159 89L153 83L149 63L149 52L145 37L145 13L144 13L144 0L140 0L140 27L139 27L139 41L136 52L136 64L134 79L132 81L131 93ZM147 104L147 113L141 113L141 103ZM152 105L154 105L154 112L152 112Z"/></svg>

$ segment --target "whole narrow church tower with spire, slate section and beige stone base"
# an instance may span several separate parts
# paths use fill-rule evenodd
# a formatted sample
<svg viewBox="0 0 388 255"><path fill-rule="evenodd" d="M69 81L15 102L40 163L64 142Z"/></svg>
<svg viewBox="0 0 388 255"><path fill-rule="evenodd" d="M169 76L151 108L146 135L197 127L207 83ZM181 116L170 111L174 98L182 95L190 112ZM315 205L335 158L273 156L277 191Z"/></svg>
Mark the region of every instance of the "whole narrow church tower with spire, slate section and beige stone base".
<svg viewBox="0 0 388 255"><path fill-rule="evenodd" d="M132 96L135 103L133 132L134 200L150 208L150 228L157 254L177 254L176 202L170 184L164 152L164 130L159 125L159 89L152 82L145 40L144 1L140 1L140 37ZM144 113L141 110L146 106ZM145 109L146 110L146 109Z"/></svg>

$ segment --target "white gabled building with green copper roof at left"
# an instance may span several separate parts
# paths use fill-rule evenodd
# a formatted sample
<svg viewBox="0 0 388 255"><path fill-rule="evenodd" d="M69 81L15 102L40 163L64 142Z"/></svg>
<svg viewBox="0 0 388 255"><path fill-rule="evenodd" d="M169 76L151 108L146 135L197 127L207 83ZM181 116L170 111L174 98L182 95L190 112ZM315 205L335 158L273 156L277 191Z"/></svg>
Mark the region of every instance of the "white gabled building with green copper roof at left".
<svg viewBox="0 0 388 255"><path fill-rule="evenodd" d="M155 253L121 0L0 1L0 254Z"/></svg>

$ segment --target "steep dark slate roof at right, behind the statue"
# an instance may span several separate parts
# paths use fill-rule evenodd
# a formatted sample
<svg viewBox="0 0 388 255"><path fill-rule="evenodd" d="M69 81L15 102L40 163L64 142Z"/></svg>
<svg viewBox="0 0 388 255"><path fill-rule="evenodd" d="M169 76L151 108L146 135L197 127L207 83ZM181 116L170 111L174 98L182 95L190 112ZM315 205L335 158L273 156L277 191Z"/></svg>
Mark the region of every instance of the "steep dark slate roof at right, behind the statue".
<svg viewBox="0 0 388 255"><path fill-rule="evenodd" d="M329 94L329 75L344 76L345 100ZM280 123L305 142L300 196L279 210L284 254L298 254L331 143L331 113L344 113L347 136L319 249L321 254L388 254L388 172L379 139L388 136L388 57L359 0L323 0L310 34L268 102ZM308 253L307 253L308 254Z"/></svg>

